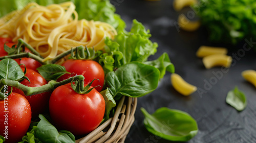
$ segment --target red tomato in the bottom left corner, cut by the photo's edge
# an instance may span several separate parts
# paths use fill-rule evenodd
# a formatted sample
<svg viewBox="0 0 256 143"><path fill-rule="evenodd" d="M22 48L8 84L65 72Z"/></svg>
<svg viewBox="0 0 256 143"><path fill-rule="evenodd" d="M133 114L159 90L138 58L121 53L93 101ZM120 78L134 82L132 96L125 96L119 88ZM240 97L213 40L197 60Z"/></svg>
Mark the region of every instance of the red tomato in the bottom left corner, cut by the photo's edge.
<svg viewBox="0 0 256 143"><path fill-rule="evenodd" d="M5 112L4 105L8 112ZM0 135L8 135L5 142L21 141L31 122L31 108L26 98L12 92L7 100L0 100L0 114Z"/></svg>

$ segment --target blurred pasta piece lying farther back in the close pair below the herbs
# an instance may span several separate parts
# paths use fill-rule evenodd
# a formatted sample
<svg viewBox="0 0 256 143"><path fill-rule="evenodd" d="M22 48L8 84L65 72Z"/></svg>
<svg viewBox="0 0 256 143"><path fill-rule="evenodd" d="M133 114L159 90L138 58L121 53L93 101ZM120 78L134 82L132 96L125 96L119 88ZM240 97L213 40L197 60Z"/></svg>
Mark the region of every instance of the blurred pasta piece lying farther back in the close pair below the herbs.
<svg viewBox="0 0 256 143"><path fill-rule="evenodd" d="M215 55L215 54L226 55L227 49L225 47L213 47L213 46L202 45L199 47L196 55L199 58L203 58L203 57L206 57L209 55Z"/></svg>

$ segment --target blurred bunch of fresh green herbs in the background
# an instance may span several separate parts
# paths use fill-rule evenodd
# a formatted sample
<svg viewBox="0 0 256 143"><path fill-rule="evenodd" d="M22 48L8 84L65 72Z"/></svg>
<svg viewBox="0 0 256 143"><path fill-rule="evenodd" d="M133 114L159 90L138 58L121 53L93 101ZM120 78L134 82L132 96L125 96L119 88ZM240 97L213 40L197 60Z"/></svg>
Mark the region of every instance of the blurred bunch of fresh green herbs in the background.
<svg viewBox="0 0 256 143"><path fill-rule="evenodd" d="M194 10L213 42L237 44L245 38L256 38L256 1L199 0Z"/></svg>

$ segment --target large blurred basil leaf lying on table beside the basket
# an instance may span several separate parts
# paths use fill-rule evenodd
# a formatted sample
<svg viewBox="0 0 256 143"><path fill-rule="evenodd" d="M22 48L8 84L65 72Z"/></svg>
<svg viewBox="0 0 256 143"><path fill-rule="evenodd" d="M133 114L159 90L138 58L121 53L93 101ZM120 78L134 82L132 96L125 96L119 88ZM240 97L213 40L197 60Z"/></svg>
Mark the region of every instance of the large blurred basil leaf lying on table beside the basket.
<svg viewBox="0 0 256 143"><path fill-rule="evenodd" d="M162 107L152 115L141 108L147 131L172 141L188 141L198 133L197 122L188 113Z"/></svg>

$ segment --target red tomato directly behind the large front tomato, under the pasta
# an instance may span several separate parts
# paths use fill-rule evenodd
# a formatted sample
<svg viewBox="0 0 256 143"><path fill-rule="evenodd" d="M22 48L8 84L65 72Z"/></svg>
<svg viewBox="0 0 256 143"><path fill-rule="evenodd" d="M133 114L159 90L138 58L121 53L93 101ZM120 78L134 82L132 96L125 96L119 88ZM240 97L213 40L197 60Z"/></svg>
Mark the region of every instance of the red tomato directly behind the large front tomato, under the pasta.
<svg viewBox="0 0 256 143"><path fill-rule="evenodd" d="M93 87L99 85L95 89L101 91L104 85L104 70L99 63L92 60L67 60L63 64L66 70L71 73L61 76L58 81L66 80L69 77L76 75L83 75L84 84L89 84L94 79L99 79L99 82L95 80L92 84Z"/></svg>

